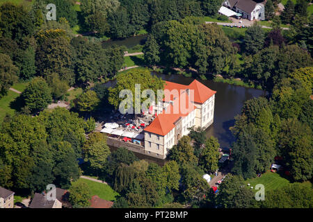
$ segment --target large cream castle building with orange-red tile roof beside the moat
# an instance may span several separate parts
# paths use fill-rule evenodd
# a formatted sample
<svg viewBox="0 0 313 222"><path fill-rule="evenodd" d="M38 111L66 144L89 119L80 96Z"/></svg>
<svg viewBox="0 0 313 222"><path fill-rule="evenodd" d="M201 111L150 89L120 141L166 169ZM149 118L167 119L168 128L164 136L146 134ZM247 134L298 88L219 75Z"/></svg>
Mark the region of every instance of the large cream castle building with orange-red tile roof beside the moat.
<svg viewBox="0 0 313 222"><path fill-rule="evenodd" d="M189 85L166 81L163 103L152 107L156 117L144 129L145 153L165 159L188 128L208 128L214 121L215 94L198 80Z"/></svg>

